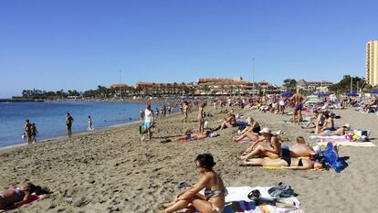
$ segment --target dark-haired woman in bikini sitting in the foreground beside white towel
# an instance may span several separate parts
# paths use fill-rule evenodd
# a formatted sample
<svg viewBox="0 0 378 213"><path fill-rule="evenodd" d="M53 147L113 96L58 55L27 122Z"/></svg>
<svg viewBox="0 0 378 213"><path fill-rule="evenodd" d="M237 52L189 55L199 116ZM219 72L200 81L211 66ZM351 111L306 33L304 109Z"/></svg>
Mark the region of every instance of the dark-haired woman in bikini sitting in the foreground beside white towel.
<svg viewBox="0 0 378 213"><path fill-rule="evenodd" d="M186 188L174 197L172 203L163 205L162 213L176 212L188 208L190 212L221 213L225 208L226 187L222 178L215 173L214 158L211 154L199 154L195 158L197 172L203 174L194 186ZM199 192L205 188L205 195Z"/></svg>

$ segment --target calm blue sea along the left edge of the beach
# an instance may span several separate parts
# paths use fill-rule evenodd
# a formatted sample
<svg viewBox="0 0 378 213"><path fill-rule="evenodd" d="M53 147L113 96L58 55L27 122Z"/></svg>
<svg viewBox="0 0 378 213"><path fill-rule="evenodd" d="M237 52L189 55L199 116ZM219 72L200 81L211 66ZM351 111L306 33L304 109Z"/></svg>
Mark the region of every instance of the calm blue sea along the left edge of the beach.
<svg viewBox="0 0 378 213"><path fill-rule="evenodd" d="M136 102L0 102L0 148L27 144L22 138L26 119L37 126L37 141L67 135L66 113L74 118L72 132L99 130L140 120L145 103ZM152 104L152 109L159 108Z"/></svg>

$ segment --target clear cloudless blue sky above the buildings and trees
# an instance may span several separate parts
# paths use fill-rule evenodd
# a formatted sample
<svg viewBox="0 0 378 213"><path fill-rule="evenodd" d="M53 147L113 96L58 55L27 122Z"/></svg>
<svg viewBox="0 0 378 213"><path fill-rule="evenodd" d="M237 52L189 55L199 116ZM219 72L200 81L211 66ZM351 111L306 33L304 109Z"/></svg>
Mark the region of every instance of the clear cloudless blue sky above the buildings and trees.
<svg viewBox="0 0 378 213"><path fill-rule="evenodd" d="M129 85L364 77L377 11L376 0L1 0L0 98L110 86L120 70Z"/></svg>

